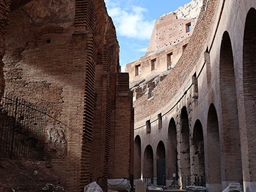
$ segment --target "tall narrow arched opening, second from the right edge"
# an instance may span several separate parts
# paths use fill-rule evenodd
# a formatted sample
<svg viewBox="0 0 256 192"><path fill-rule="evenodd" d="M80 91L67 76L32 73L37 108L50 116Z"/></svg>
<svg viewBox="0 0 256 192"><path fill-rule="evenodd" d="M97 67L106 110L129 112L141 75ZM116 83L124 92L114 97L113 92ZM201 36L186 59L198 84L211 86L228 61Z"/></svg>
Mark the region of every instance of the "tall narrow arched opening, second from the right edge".
<svg viewBox="0 0 256 192"><path fill-rule="evenodd" d="M222 99L226 181L242 182L243 173L236 100L236 82L232 44L228 32L224 32L222 36L220 49L220 91Z"/></svg>

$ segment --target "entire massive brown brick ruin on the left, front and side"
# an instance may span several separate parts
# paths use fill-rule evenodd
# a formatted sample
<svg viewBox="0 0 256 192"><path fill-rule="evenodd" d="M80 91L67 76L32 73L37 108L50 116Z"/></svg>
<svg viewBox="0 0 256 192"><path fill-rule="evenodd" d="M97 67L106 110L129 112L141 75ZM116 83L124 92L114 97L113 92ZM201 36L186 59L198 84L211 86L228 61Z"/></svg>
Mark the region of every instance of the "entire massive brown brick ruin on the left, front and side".
<svg viewBox="0 0 256 192"><path fill-rule="evenodd" d="M92 181L106 191L106 179L129 179L129 75L120 73L119 44L104 1L1 0L0 8L1 94L46 106L61 122L54 126L65 134L67 154L57 158L45 146L44 158L67 191L82 191Z"/></svg>

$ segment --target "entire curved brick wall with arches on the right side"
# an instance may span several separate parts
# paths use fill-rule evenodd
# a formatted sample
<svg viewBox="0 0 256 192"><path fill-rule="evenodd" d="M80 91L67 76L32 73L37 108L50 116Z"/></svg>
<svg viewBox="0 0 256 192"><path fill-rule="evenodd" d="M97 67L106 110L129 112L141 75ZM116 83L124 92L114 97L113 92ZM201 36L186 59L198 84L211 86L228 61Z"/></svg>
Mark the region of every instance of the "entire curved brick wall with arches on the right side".
<svg viewBox="0 0 256 192"><path fill-rule="evenodd" d="M209 191L234 182L256 191L255 8L254 0L203 1L177 64L154 97L133 102L135 179L161 184L164 175L167 187L182 187L205 178Z"/></svg>

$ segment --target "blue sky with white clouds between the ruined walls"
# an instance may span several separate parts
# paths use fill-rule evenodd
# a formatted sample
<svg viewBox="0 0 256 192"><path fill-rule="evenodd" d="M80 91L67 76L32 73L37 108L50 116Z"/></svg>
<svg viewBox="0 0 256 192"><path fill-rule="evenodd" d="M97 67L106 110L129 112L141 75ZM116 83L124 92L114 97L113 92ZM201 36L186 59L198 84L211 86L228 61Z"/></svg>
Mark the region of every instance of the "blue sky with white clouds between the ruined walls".
<svg viewBox="0 0 256 192"><path fill-rule="evenodd" d="M113 19L120 46L120 65L136 61L145 55L154 22L160 16L175 11L191 0L105 0Z"/></svg>

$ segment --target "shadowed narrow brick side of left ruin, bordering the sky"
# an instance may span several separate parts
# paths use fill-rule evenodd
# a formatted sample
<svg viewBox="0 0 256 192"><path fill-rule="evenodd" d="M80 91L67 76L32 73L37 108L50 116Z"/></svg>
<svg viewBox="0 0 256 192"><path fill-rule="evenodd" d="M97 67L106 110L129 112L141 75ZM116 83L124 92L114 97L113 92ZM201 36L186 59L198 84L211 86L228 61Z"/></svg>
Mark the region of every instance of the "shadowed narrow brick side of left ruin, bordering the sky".
<svg viewBox="0 0 256 192"><path fill-rule="evenodd" d="M107 189L106 179L129 179L133 154L132 99L129 75L121 73L119 44L104 1L96 5L96 113L92 151L92 181ZM125 119L119 116L125 115ZM103 118L102 118L103 117ZM125 138L124 138L125 136Z"/></svg>

